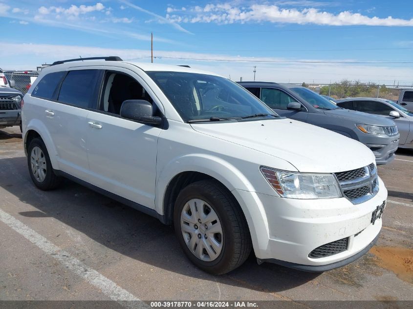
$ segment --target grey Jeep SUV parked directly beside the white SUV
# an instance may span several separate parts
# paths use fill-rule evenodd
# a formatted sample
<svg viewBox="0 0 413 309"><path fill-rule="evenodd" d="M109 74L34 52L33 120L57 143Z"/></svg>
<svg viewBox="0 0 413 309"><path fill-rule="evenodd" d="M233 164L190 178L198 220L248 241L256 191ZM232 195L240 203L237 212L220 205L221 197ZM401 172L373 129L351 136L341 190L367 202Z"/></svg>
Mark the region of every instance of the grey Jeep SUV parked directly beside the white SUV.
<svg viewBox="0 0 413 309"><path fill-rule="evenodd" d="M367 145L377 165L394 159L400 134L393 121L336 106L302 86L275 82L239 82L277 114L321 126Z"/></svg>

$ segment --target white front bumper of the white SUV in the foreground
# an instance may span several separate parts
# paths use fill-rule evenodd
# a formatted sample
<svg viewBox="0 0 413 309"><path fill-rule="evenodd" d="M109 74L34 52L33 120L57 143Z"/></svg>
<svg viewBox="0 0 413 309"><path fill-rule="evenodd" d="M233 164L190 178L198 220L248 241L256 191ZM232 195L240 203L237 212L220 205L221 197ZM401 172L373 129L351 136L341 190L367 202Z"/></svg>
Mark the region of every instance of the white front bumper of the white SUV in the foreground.
<svg viewBox="0 0 413 309"><path fill-rule="evenodd" d="M235 190L235 195L241 198L240 204L244 203L243 209L258 206L246 217L259 261L303 270L320 266L317 271L324 271L352 262L374 244L382 219L371 224L372 212L387 199L387 189L380 178L379 186L373 198L358 205L346 198L298 200L241 190ZM309 257L315 248L343 238L348 238L345 251Z"/></svg>

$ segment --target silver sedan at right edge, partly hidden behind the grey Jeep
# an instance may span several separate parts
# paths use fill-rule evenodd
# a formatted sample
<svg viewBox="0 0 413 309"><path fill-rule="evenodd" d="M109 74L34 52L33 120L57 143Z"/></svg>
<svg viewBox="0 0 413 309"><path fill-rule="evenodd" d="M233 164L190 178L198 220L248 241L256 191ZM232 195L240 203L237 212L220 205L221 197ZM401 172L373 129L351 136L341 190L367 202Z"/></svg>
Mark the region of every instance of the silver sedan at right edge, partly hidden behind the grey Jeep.
<svg viewBox="0 0 413 309"><path fill-rule="evenodd" d="M413 111L394 101L376 98L342 99L337 100L337 105L393 120L400 132L399 147L413 148Z"/></svg>

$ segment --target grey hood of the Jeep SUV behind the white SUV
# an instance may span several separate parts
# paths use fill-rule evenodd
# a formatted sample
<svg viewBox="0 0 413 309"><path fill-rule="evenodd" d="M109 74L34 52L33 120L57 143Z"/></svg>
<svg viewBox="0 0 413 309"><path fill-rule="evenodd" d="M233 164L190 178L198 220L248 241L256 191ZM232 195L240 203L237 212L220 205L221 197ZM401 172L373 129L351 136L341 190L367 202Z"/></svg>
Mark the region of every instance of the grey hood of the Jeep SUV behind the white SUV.
<svg viewBox="0 0 413 309"><path fill-rule="evenodd" d="M344 118L348 120L353 120L357 124L371 124L379 126L392 126L395 125L390 119L386 119L380 116L371 115L363 112L358 112L350 109L332 109L325 110L324 114L327 116L333 116L338 118Z"/></svg>

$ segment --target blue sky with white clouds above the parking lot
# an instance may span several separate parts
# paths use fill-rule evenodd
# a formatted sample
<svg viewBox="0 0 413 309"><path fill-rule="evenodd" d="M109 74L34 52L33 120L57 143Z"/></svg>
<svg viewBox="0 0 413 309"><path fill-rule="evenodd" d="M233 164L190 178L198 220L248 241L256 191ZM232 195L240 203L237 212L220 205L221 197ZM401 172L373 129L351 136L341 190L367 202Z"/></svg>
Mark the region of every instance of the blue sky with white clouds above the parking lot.
<svg viewBox="0 0 413 309"><path fill-rule="evenodd" d="M252 80L257 66L262 81L410 85L413 63L400 62L413 62L412 12L409 0L0 0L0 67L102 55L150 62L153 32L154 62L233 80Z"/></svg>

